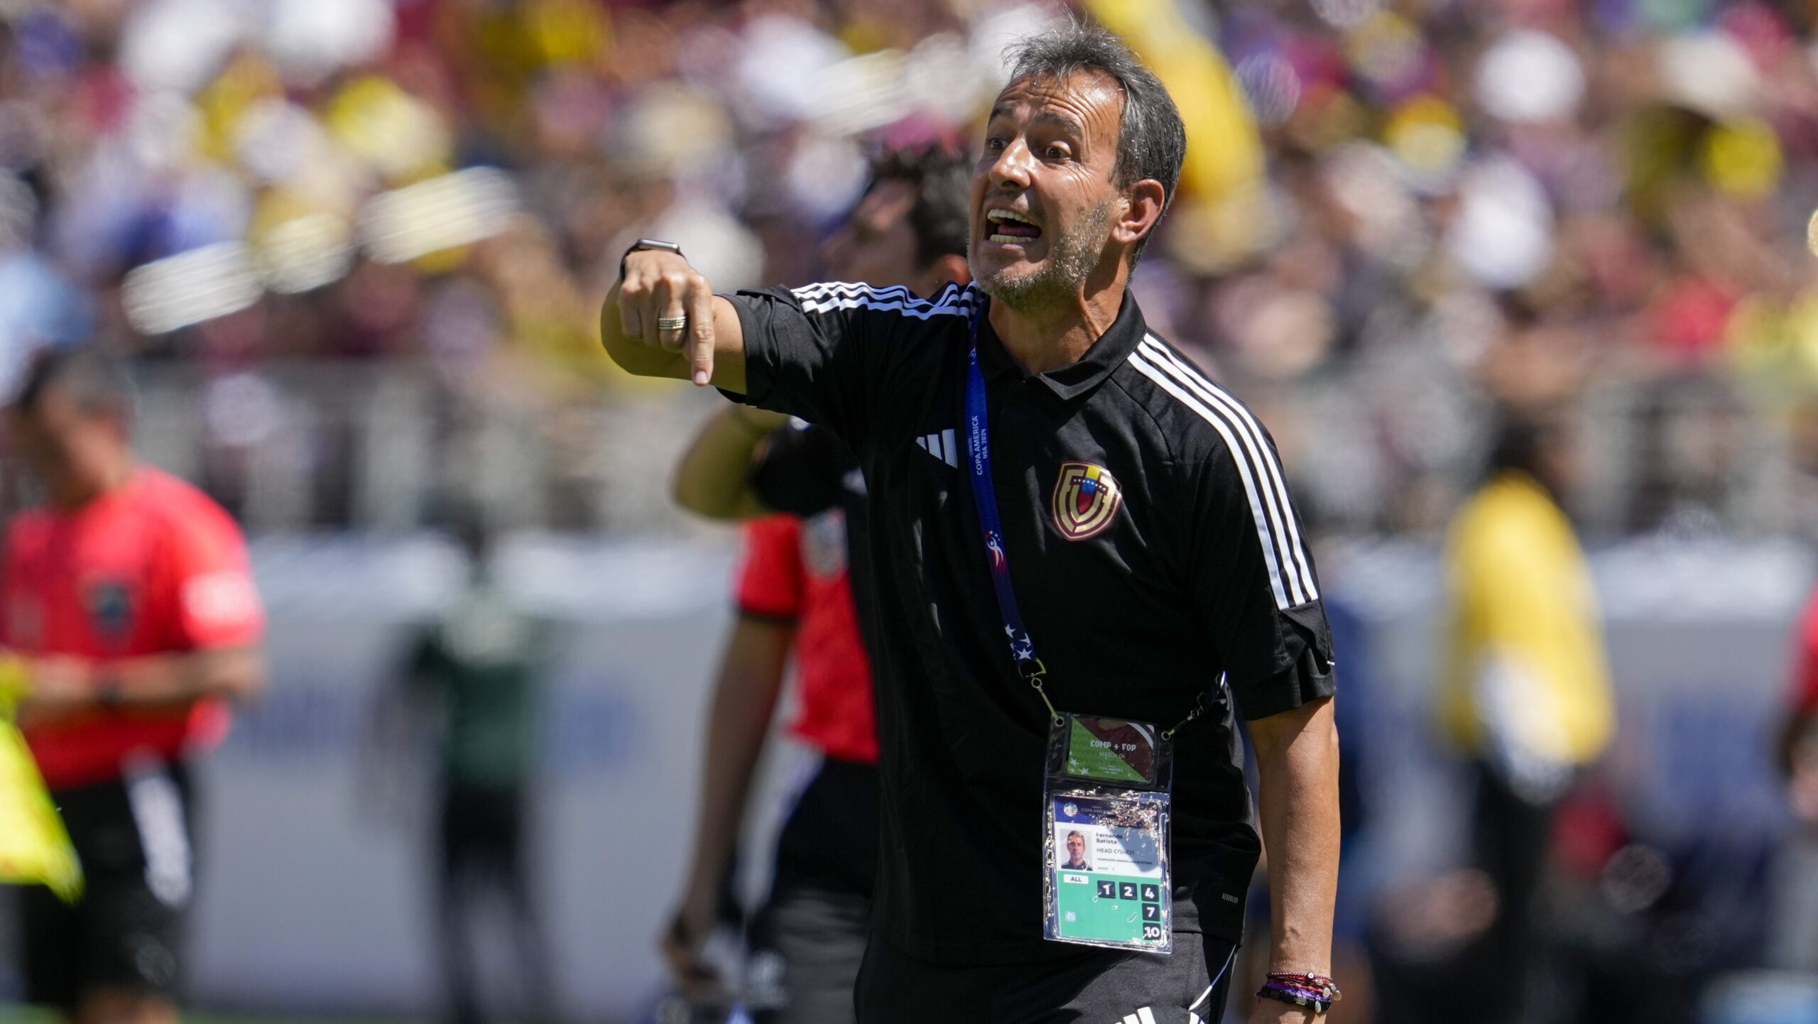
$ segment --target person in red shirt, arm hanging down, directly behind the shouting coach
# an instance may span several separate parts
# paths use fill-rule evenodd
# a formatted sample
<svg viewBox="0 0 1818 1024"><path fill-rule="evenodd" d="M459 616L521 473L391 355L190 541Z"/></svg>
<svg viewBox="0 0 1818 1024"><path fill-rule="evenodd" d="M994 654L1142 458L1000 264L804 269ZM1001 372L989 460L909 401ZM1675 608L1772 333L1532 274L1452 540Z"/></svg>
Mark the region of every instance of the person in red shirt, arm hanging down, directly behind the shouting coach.
<svg viewBox="0 0 1818 1024"><path fill-rule="evenodd" d="M847 582L840 509L744 527L740 624L727 646L709 726L707 786L694 857L665 951L685 995L729 1000L684 937L711 929L751 769L796 658L798 711L789 733L822 755L776 840L771 897L751 924L740 999L760 1022L842 1020L869 931L878 846L878 733L871 662ZM736 775L736 778L733 778ZM820 928L813 928L820 922Z"/></svg>

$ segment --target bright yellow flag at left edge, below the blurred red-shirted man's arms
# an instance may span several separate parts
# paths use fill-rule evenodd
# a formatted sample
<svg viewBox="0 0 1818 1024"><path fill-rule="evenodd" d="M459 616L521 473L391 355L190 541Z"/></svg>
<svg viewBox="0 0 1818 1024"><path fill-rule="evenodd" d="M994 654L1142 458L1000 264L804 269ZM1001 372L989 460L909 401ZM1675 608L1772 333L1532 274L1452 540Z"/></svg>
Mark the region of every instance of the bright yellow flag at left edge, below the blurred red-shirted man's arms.
<svg viewBox="0 0 1818 1024"><path fill-rule="evenodd" d="M0 884L49 886L64 902L76 902L82 864L25 737L13 724L24 691L24 666L0 660Z"/></svg>

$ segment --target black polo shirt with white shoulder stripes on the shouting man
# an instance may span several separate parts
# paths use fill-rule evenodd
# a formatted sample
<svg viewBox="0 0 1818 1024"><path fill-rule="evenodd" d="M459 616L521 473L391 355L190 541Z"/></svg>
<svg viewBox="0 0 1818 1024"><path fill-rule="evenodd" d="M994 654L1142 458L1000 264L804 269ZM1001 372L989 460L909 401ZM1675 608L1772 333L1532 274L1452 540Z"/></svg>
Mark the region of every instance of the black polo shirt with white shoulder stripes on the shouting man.
<svg viewBox="0 0 1818 1024"><path fill-rule="evenodd" d="M960 471L984 295L827 284L731 300L747 400L831 429L869 486L876 928L934 962L1076 955L1042 940L1047 713L1011 662ZM1173 724L1209 693L1176 737L1174 928L1236 940L1260 842L1233 715L1287 711L1334 682L1273 442L1129 296L1073 366L1025 375L989 322L978 347L1011 578L1054 704Z"/></svg>

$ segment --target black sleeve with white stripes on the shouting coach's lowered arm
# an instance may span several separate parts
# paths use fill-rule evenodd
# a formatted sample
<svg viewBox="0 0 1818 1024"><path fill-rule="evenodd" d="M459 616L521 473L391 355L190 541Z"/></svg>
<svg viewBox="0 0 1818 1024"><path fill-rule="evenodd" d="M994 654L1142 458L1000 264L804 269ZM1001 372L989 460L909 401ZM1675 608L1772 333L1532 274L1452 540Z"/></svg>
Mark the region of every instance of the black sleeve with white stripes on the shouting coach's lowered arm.
<svg viewBox="0 0 1818 1024"><path fill-rule="evenodd" d="M1202 458L1189 567L1194 604L1249 720L1336 691L1333 633L1274 444L1233 429Z"/></svg>

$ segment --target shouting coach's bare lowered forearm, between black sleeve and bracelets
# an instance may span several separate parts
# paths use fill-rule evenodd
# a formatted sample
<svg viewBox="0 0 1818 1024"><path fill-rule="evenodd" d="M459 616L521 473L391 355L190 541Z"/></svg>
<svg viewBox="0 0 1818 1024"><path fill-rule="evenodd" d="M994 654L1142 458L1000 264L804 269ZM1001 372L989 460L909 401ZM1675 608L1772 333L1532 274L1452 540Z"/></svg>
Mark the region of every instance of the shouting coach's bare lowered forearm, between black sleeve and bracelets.
<svg viewBox="0 0 1818 1024"><path fill-rule="evenodd" d="M1333 702L1251 722L1269 857L1273 971L1329 973L1338 895L1338 729Z"/></svg>

